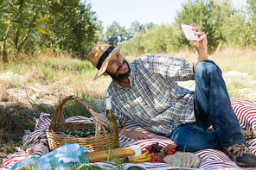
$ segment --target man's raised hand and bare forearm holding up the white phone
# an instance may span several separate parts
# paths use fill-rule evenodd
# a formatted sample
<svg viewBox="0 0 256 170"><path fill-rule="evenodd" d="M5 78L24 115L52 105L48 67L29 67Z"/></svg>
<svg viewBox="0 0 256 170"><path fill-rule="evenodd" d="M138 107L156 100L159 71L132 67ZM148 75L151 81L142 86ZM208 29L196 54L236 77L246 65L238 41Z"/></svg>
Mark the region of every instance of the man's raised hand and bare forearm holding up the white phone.
<svg viewBox="0 0 256 170"><path fill-rule="evenodd" d="M202 60L208 60L208 40L206 34L204 34L199 27L195 24L195 22L190 23L189 25L193 26L192 30L196 32L194 35L198 35L198 39L196 41L190 41L191 44L196 49L195 60L194 60L194 72L195 67L200 63Z"/></svg>

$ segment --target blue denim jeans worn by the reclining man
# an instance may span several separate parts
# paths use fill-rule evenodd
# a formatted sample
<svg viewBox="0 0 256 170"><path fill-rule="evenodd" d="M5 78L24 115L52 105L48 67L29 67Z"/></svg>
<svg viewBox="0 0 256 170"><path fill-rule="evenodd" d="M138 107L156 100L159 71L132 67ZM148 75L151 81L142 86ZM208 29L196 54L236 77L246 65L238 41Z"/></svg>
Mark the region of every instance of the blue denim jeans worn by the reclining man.
<svg viewBox="0 0 256 170"><path fill-rule="evenodd" d="M214 61L200 62L195 69L195 123L179 126L170 135L182 150L230 147L245 142L240 123L231 107L222 72ZM206 130L213 125L214 132Z"/></svg>

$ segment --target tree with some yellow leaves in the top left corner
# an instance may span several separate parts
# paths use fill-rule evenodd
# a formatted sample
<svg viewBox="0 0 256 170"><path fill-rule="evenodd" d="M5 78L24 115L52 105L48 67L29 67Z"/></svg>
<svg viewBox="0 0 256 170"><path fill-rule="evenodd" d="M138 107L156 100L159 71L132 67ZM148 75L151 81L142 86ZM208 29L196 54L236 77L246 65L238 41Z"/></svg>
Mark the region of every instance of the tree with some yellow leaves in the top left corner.
<svg viewBox="0 0 256 170"><path fill-rule="evenodd" d="M40 0L35 3L31 0L0 1L0 40L4 62L8 62L10 53L17 57L29 37L35 41L39 32L46 34L43 21L48 17L39 19L41 5Z"/></svg>

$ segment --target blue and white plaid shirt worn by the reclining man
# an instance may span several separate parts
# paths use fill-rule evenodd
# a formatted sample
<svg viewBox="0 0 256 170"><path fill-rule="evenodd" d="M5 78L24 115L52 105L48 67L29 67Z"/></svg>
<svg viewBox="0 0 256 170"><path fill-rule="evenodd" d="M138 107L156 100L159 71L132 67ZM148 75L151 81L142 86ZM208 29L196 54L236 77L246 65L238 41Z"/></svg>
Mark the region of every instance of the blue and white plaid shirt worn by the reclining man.
<svg viewBox="0 0 256 170"><path fill-rule="evenodd" d="M195 123L194 91L176 83L195 79L192 61L149 55L129 65L131 88L112 81L106 91L118 127L130 117L145 129L169 136L181 124Z"/></svg>

